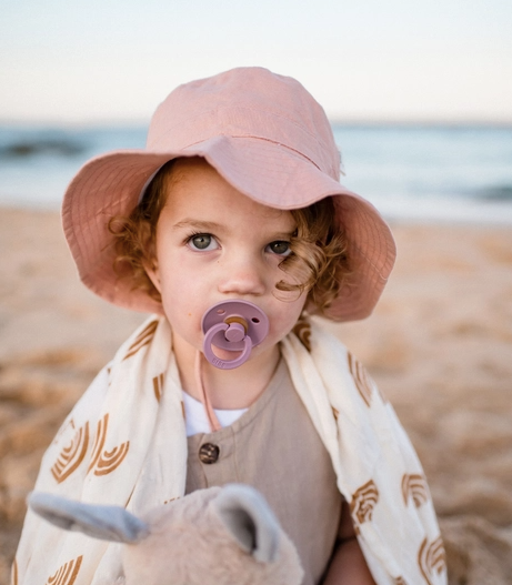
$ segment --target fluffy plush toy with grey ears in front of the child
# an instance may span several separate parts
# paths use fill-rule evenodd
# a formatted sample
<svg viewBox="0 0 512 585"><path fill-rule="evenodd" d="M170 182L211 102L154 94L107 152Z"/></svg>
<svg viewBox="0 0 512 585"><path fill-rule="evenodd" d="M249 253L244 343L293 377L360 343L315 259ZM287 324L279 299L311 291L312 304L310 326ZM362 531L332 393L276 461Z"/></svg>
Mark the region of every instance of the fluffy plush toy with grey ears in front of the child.
<svg viewBox="0 0 512 585"><path fill-rule="evenodd" d="M126 543L126 585L300 585L302 581L295 547L263 496L247 485L199 490L143 518L120 506L43 493L32 493L29 506L60 528Z"/></svg>

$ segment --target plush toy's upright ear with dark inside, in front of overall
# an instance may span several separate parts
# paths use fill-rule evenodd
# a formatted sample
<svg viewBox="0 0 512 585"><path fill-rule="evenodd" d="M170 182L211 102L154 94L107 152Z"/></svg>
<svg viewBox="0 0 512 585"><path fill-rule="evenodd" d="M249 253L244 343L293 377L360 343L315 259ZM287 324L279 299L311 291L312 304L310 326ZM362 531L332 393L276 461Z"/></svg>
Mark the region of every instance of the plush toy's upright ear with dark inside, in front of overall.
<svg viewBox="0 0 512 585"><path fill-rule="evenodd" d="M275 561L280 526L265 498L257 490L249 485L228 484L213 505L242 551L251 553L262 563Z"/></svg>

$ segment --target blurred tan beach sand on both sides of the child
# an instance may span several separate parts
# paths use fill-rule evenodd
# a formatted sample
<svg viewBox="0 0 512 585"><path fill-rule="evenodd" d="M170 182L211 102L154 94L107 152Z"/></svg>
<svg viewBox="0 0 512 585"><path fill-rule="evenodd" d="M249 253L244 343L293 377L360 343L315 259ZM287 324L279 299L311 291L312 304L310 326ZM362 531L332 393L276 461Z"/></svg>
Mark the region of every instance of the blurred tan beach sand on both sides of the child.
<svg viewBox="0 0 512 585"><path fill-rule="evenodd" d="M331 326L394 404L428 475L451 584L512 583L512 229L393 225L374 314ZM39 461L143 315L80 284L57 213L0 210L0 585Z"/></svg>

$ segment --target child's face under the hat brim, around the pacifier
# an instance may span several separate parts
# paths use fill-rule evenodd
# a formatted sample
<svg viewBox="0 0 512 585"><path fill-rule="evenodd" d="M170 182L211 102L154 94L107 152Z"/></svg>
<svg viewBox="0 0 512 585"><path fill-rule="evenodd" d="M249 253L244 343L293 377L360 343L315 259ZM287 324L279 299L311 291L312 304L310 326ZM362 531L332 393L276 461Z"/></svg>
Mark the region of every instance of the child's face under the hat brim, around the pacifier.
<svg viewBox="0 0 512 585"><path fill-rule="evenodd" d="M157 225L157 260L149 275L162 295L175 336L202 349L201 319L213 304L239 299L254 303L270 322L251 359L275 351L293 327L305 293L282 293L293 282L278 264L290 253L295 223L289 211L255 203L202 161L179 160Z"/></svg>

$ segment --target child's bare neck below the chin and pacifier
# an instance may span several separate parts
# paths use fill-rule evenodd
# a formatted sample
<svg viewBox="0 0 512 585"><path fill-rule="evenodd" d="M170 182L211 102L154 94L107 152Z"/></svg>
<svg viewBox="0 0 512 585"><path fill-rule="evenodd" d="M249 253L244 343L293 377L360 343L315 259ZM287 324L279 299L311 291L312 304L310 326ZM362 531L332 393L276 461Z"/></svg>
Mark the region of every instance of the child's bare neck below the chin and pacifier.
<svg viewBox="0 0 512 585"><path fill-rule="evenodd" d="M201 389L194 371L197 351L181 337L173 337L173 351L183 390L201 400ZM249 407L268 386L280 360L278 345L259 354L233 370L220 370L201 359L201 379L213 409L233 410Z"/></svg>

